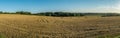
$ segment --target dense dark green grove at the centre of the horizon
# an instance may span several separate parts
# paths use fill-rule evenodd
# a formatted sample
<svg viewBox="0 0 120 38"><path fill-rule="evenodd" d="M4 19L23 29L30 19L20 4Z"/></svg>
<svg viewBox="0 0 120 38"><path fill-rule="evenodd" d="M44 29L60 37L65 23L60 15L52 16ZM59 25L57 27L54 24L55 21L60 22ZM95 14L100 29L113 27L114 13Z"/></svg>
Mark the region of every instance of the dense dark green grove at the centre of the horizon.
<svg viewBox="0 0 120 38"><path fill-rule="evenodd" d="M35 15L58 16L58 17L84 16L84 14L82 13L69 13L69 12L43 12L43 13L36 13Z"/></svg>

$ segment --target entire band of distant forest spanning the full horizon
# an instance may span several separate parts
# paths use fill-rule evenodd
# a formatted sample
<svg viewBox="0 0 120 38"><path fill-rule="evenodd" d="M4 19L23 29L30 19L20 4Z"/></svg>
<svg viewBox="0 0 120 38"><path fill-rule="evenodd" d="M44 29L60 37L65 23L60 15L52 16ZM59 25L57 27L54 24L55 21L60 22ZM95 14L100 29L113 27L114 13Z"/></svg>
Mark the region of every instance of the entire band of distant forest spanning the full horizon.
<svg viewBox="0 0 120 38"><path fill-rule="evenodd" d="M14 13L11 12L2 12L0 14L25 14L25 15L38 15L38 16L55 16L55 17L71 17L71 16L101 16L101 17L109 17L109 16L120 16L119 13L75 13L75 12L40 12L40 13L31 13L27 11L17 11Z"/></svg>

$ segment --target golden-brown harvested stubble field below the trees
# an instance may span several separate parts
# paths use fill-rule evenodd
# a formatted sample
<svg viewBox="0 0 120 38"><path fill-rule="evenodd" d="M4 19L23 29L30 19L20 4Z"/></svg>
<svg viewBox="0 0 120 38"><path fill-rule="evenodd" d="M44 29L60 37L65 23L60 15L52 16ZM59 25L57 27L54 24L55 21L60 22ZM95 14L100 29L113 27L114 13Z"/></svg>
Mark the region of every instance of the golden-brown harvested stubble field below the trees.
<svg viewBox="0 0 120 38"><path fill-rule="evenodd" d="M0 14L1 38L104 38L120 34L120 17Z"/></svg>

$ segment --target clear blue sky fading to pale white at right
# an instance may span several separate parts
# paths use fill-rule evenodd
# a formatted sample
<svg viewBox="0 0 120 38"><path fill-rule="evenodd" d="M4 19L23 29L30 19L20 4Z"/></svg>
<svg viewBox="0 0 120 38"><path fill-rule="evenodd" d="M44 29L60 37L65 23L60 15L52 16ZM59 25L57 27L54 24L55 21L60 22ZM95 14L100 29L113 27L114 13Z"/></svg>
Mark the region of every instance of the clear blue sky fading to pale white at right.
<svg viewBox="0 0 120 38"><path fill-rule="evenodd" d="M120 13L120 0L0 0L0 11Z"/></svg>

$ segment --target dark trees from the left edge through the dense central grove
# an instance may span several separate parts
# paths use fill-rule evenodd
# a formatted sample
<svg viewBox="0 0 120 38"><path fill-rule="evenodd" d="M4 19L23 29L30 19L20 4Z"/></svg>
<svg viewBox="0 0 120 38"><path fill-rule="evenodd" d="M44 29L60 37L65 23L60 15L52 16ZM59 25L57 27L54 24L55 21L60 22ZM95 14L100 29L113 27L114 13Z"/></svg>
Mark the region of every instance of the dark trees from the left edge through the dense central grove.
<svg viewBox="0 0 120 38"><path fill-rule="evenodd" d="M25 15L39 15L39 16L57 16L57 17L69 17L69 16L84 16L82 13L70 13L70 12L40 12L34 13L27 11L17 11L15 13L10 12L0 12L0 14L25 14Z"/></svg>

